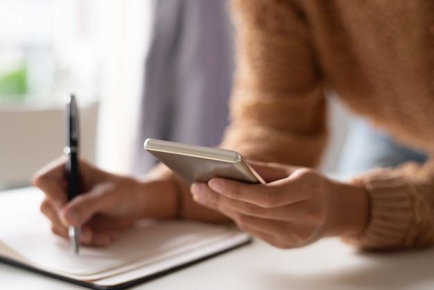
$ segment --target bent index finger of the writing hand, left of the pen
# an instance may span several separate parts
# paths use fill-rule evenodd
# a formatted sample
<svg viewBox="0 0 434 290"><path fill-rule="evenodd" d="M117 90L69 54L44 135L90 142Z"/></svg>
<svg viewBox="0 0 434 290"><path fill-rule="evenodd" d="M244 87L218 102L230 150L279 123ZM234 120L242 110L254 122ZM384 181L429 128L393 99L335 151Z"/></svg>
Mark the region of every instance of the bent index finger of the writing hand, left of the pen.
<svg viewBox="0 0 434 290"><path fill-rule="evenodd" d="M33 185L42 189L46 196L53 200L53 205L58 210L67 203L67 193L64 189L65 162L66 157L62 156L47 164L33 176Z"/></svg>

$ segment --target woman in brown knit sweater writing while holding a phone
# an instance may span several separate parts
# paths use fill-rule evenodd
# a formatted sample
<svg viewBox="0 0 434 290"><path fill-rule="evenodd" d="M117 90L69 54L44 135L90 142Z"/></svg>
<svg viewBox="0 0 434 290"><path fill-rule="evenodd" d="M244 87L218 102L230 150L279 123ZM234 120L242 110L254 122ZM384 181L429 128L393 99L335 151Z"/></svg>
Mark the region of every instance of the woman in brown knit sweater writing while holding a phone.
<svg viewBox="0 0 434 290"><path fill-rule="evenodd" d="M107 245L135 220L234 221L280 248L338 236L359 248L434 243L433 162L336 182L311 168L327 141L324 89L412 148L434 151L432 1L235 0L237 69L220 146L252 162L266 185L214 178L189 187L157 166L141 180L83 161L85 194L67 203L64 160L42 169L53 232L83 224ZM263 163L267 162L267 163Z"/></svg>

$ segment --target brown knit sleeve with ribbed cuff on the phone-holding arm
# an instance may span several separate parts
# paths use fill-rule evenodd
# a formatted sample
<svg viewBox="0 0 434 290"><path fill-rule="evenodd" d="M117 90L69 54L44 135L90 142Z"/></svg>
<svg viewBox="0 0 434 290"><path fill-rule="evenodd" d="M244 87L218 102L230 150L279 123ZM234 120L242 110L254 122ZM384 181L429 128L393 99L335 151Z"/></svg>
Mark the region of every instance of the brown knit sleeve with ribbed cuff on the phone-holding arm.
<svg viewBox="0 0 434 290"><path fill-rule="evenodd" d="M378 169L352 180L370 197L370 219L360 235L343 239L370 250L433 246L433 161Z"/></svg>

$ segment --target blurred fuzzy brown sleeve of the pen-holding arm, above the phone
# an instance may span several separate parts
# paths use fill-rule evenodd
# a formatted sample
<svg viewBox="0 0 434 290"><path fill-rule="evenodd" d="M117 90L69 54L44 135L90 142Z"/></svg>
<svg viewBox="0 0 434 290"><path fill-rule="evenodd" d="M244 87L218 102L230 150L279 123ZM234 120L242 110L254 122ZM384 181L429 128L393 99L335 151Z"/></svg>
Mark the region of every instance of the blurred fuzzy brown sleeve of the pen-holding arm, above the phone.
<svg viewBox="0 0 434 290"><path fill-rule="evenodd" d="M236 73L223 148L252 160L314 167L327 140L322 77L291 1L234 0Z"/></svg>

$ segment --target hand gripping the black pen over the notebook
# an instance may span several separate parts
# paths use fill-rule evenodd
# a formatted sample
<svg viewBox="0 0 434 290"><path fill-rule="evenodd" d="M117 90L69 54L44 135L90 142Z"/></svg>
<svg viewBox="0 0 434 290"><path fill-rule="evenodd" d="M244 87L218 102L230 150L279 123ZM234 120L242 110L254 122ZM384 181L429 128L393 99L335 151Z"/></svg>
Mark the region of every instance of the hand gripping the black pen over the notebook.
<svg viewBox="0 0 434 290"><path fill-rule="evenodd" d="M82 225L82 244L107 246L117 231L129 228L137 219L175 215L177 196L172 182L119 176L84 160L80 160L83 194L68 202L66 161L60 157L33 177L33 184L45 193L40 207L55 234L67 238L69 226Z"/></svg>

